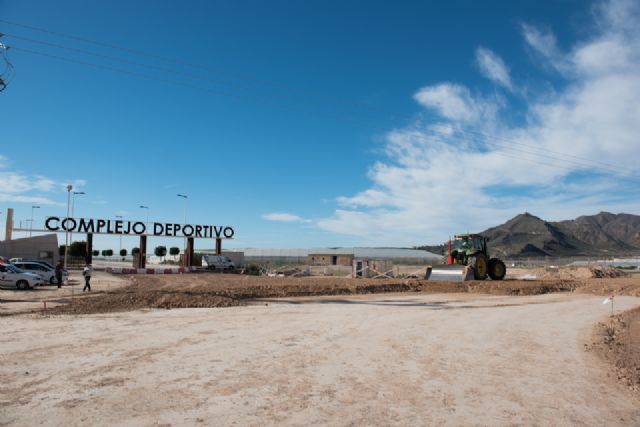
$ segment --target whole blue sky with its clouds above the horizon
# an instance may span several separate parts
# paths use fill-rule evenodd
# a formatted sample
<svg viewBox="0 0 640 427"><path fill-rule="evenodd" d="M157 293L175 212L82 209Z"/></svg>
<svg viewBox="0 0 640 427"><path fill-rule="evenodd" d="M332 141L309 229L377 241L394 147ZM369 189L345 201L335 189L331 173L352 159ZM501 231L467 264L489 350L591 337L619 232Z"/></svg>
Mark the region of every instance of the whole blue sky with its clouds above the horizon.
<svg viewBox="0 0 640 427"><path fill-rule="evenodd" d="M71 182L76 216L177 222L185 193L187 222L233 225L234 247L638 214L637 9L0 0L0 210L63 215Z"/></svg>

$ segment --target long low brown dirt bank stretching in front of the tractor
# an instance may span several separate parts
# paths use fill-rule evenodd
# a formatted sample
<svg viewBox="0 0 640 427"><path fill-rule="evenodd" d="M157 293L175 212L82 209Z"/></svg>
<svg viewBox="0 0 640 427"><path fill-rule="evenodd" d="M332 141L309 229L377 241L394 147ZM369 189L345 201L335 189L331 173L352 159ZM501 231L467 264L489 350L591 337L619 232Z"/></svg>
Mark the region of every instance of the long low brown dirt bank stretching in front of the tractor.
<svg viewBox="0 0 640 427"><path fill-rule="evenodd" d="M98 295L77 297L51 313L88 314L144 308L233 307L265 298L373 293L471 292L538 295L576 289L575 281L433 282L416 279L346 279L181 275L131 277L131 285Z"/></svg>

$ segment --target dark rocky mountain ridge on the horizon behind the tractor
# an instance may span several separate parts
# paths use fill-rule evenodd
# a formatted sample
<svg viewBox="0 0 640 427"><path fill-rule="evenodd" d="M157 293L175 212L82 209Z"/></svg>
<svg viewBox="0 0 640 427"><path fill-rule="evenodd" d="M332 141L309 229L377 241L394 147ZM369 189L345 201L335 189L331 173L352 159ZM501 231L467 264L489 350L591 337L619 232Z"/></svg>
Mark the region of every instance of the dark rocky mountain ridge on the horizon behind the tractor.
<svg viewBox="0 0 640 427"><path fill-rule="evenodd" d="M640 216L600 212L548 222L530 213L481 232L500 258L620 256L640 254ZM442 253L442 246L426 246Z"/></svg>

